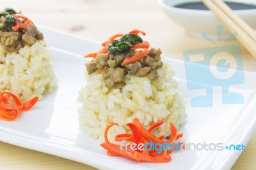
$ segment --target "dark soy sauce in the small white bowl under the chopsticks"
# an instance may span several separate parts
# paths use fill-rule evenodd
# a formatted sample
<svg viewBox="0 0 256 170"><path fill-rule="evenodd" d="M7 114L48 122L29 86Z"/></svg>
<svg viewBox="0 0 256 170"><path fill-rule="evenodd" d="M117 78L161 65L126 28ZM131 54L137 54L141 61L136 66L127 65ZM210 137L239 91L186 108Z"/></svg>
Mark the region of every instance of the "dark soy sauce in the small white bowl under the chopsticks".
<svg viewBox="0 0 256 170"><path fill-rule="evenodd" d="M232 3L225 2L232 10L252 10L256 9L256 5L253 4L244 4L244 3ZM183 8L189 10L209 10L204 3L194 2L194 3L182 3L174 6L176 8Z"/></svg>

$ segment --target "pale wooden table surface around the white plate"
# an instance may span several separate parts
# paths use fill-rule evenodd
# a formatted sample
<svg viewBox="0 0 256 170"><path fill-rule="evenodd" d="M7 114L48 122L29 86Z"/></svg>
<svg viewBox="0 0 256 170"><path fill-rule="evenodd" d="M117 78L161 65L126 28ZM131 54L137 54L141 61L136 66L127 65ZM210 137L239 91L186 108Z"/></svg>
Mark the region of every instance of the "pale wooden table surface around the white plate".
<svg viewBox="0 0 256 170"><path fill-rule="evenodd" d="M163 55L182 59L188 49L209 47L202 38L186 35L163 13L157 0L2 0L1 8L22 10L41 26L102 42L134 28L147 32L148 42ZM256 59L242 48L244 70L256 72ZM256 134L232 169L256 169ZM93 167L0 142L0 169L95 169Z"/></svg>

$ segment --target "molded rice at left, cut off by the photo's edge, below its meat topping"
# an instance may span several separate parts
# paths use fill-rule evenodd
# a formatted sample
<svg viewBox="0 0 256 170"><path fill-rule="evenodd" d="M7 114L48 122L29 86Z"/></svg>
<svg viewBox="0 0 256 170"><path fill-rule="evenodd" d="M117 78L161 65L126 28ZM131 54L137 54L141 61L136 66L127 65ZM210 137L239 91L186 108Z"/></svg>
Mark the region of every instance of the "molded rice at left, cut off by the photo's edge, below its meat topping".
<svg viewBox="0 0 256 170"><path fill-rule="evenodd" d="M4 52L0 43L0 91L10 91L22 102L51 93L56 77L44 40L24 46L19 52Z"/></svg>

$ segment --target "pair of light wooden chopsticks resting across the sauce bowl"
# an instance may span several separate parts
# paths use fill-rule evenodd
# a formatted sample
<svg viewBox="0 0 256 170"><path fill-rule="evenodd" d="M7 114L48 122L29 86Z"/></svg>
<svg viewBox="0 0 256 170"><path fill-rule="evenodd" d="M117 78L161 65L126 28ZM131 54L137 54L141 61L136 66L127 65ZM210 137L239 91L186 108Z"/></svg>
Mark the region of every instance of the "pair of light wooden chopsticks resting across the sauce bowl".
<svg viewBox="0 0 256 170"><path fill-rule="evenodd" d="M256 32L234 13L222 0L202 0L231 33L237 32L237 40L256 58Z"/></svg>

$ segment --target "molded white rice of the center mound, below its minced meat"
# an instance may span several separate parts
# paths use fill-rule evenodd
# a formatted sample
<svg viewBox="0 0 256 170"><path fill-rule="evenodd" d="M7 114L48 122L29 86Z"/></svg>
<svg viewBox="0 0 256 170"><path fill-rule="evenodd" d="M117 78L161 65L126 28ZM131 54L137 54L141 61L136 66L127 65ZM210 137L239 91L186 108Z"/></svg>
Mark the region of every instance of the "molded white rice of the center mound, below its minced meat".
<svg viewBox="0 0 256 170"><path fill-rule="evenodd" d="M79 91L77 101L82 104L79 111L79 125L93 138L104 141L103 134L107 125L116 122L120 127L109 129L110 141L116 134L129 132L126 123L139 118L148 128L163 120L156 135L170 135L170 122L179 127L185 120L185 107L182 95L177 91L177 82L173 80L172 67L164 64L157 69L159 78L150 81L148 76L125 75L125 86L121 89L109 89L101 75L102 70L88 75L86 86Z"/></svg>

